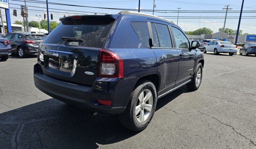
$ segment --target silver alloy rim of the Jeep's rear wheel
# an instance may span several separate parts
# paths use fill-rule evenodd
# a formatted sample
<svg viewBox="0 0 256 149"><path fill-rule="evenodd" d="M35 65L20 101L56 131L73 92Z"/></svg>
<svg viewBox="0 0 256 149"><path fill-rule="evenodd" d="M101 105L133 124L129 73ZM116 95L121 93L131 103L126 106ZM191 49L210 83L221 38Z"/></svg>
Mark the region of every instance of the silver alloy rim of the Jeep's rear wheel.
<svg viewBox="0 0 256 149"><path fill-rule="evenodd" d="M134 113L138 122L145 122L149 117L153 106L153 95L149 89L145 89L139 95Z"/></svg>

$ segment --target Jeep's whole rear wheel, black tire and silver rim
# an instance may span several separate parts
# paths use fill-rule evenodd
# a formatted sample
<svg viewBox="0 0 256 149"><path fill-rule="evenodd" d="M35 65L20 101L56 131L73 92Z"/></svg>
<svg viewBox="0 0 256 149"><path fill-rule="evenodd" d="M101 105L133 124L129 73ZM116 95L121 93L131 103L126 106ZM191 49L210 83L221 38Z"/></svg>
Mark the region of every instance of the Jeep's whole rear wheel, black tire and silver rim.
<svg viewBox="0 0 256 149"><path fill-rule="evenodd" d="M119 119L122 125L133 131L145 129L151 121L157 105L155 85L144 80L133 90L129 103Z"/></svg>

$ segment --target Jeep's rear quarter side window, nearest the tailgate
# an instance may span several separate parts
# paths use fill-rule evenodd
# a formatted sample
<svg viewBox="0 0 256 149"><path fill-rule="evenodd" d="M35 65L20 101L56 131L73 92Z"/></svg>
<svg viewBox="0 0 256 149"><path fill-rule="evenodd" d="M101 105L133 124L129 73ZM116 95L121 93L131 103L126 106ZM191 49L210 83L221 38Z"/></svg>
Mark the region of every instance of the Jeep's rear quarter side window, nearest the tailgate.
<svg viewBox="0 0 256 149"><path fill-rule="evenodd" d="M149 48L149 29L147 22L132 22L131 25L137 36L140 38L141 43Z"/></svg>

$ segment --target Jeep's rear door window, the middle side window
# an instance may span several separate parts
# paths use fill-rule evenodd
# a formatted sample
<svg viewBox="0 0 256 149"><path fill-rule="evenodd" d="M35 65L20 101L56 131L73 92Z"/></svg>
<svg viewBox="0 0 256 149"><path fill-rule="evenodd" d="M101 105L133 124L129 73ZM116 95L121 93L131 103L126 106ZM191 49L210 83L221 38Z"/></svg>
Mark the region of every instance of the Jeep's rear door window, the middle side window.
<svg viewBox="0 0 256 149"><path fill-rule="evenodd" d="M160 47L172 48L171 36L167 25L155 23L157 27Z"/></svg>

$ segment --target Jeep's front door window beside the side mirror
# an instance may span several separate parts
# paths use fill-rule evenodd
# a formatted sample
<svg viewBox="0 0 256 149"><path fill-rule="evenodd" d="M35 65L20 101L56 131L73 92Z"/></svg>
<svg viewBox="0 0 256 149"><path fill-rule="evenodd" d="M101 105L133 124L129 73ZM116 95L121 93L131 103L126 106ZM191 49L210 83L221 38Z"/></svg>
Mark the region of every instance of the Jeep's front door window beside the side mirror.
<svg viewBox="0 0 256 149"><path fill-rule="evenodd" d="M172 27L172 30L175 38L176 48L188 49L189 41L186 36L178 28Z"/></svg>

